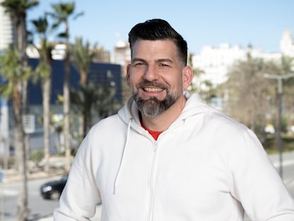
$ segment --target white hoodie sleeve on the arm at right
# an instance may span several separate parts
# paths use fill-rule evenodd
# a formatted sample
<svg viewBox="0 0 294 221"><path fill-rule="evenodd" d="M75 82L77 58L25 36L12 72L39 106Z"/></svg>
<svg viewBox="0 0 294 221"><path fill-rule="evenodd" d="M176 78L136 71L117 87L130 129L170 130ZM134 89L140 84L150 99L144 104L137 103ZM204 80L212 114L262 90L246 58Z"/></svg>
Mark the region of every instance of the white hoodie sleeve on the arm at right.
<svg viewBox="0 0 294 221"><path fill-rule="evenodd" d="M294 220L294 201L256 135L241 134L230 166L232 194L251 220Z"/></svg>

